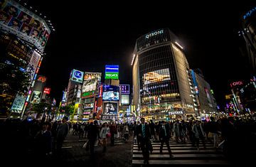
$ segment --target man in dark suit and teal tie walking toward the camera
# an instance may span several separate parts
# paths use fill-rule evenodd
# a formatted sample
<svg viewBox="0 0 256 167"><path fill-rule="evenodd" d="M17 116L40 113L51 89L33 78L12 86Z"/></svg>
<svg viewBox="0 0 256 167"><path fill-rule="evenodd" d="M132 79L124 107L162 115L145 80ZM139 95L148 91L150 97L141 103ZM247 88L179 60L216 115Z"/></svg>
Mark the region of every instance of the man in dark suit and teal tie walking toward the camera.
<svg viewBox="0 0 256 167"><path fill-rule="evenodd" d="M149 125L145 123L145 119L141 119L142 124L139 124L137 133L140 139L140 145L142 149L142 155L144 163L149 164L149 139L151 138Z"/></svg>

